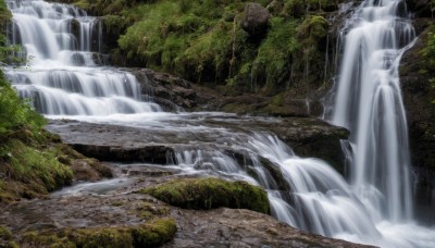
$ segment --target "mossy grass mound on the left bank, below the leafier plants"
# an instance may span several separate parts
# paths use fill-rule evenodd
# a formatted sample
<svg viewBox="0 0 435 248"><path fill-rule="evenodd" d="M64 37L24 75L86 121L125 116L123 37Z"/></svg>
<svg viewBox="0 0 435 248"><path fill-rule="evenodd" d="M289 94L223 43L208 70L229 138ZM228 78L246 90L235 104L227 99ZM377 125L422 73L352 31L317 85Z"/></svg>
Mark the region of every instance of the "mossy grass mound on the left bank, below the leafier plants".
<svg viewBox="0 0 435 248"><path fill-rule="evenodd" d="M11 139L0 146L0 201L47 195L71 184L73 173L52 150Z"/></svg>

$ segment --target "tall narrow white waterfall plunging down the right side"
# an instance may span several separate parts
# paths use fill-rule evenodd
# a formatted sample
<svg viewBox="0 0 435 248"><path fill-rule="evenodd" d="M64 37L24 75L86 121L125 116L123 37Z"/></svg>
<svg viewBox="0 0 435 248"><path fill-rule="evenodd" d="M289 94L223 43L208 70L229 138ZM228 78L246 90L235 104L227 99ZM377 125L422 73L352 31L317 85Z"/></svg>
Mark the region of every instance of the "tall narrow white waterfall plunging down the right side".
<svg viewBox="0 0 435 248"><path fill-rule="evenodd" d="M403 7L397 0L364 1L348 21L332 117L351 132L353 190L369 207L381 203L380 214L394 222L412 214L398 67L414 30Z"/></svg>

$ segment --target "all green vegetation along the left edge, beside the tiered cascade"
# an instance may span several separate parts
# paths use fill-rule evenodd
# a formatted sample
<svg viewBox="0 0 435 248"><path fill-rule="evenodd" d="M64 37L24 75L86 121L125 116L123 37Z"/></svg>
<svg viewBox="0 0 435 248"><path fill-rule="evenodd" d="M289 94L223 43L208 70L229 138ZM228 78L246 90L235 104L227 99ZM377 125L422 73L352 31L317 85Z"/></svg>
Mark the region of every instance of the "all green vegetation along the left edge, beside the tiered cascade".
<svg viewBox="0 0 435 248"><path fill-rule="evenodd" d="M0 0L2 30L11 16ZM7 46L5 40L0 34L1 65L24 62L14 57L21 48ZM73 172L65 153L74 152L59 137L44 131L45 125L44 116L17 97L0 71L0 202L46 196L72 182Z"/></svg>

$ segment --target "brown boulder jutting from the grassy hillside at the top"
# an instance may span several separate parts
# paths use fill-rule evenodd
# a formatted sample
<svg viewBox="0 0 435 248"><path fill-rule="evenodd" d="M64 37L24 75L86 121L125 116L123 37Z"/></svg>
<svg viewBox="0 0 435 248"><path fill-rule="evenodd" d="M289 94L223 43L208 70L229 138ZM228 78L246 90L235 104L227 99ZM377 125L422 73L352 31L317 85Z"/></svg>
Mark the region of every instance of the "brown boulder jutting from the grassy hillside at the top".
<svg viewBox="0 0 435 248"><path fill-rule="evenodd" d="M268 9L259 3L249 2L245 5L241 28L252 37L262 36L268 30L270 17Z"/></svg>

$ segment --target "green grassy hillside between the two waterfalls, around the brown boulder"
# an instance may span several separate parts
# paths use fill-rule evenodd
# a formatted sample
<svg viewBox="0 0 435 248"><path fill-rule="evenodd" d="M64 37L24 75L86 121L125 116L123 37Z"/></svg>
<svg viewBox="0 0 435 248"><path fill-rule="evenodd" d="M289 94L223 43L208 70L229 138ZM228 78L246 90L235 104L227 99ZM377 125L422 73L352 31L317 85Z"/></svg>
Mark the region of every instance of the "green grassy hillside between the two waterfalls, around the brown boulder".
<svg viewBox="0 0 435 248"><path fill-rule="evenodd" d="M150 67L194 83L276 94L325 80L326 16L340 1L256 0L266 26L244 28L248 1L79 0L103 16L116 64ZM257 5L258 7L258 5Z"/></svg>

